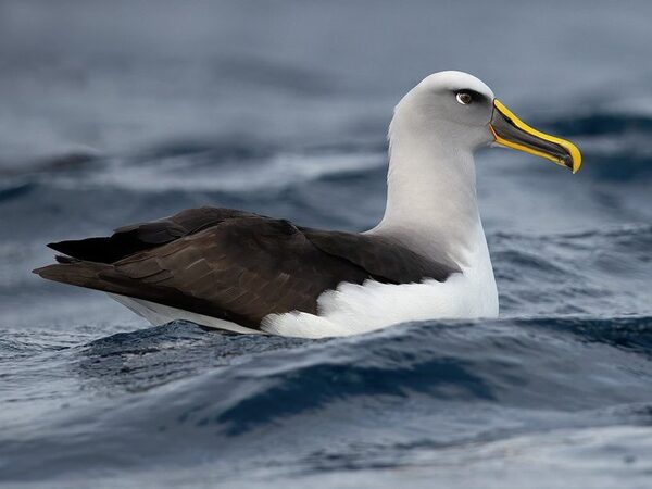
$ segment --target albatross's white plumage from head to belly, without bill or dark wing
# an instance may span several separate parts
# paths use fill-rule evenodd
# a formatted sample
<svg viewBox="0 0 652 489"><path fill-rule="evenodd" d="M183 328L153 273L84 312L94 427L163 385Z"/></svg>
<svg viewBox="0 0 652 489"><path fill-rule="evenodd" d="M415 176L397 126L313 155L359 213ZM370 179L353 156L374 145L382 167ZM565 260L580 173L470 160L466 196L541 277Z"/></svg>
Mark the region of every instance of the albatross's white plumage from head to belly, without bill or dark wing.
<svg viewBox="0 0 652 489"><path fill-rule="evenodd" d="M412 251L461 273L446 281L340 284L317 301L318 314L271 314L265 333L325 337L365 333L397 323L496 317L498 291L476 197L474 152L493 141L490 103L461 104L457 89L493 100L477 78L460 72L430 75L397 105L389 128L387 206L371 235L391 237ZM115 297L153 324L187 319L238 333L253 329L154 304Z"/></svg>

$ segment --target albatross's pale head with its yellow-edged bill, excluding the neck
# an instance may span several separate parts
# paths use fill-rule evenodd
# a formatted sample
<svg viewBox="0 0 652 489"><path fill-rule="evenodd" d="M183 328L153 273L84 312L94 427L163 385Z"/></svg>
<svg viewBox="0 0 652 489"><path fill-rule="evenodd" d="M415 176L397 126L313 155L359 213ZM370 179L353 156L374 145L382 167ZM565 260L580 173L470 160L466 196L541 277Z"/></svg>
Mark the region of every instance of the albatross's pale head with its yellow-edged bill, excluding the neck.
<svg viewBox="0 0 652 489"><path fill-rule="evenodd" d="M544 158L573 173L581 166L575 145L528 126L467 73L449 71L426 77L401 100L397 118L423 138L437 137L456 148L473 151L502 146Z"/></svg>

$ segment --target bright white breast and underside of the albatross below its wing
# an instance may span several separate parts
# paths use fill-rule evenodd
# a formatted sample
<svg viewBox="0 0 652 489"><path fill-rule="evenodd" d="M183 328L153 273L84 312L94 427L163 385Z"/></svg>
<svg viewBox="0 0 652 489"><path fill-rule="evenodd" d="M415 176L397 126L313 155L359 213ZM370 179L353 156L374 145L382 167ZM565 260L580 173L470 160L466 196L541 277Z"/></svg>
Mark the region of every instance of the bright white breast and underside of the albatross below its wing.
<svg viewBox="0 0 652 489"><path fill-rule="evenodd" d="M262 333L303 338L348 336L393 324L426 319L471 319L498 316L498 291L489 252L484 239L469 250L467 266L448 280L389 285L366 280L363 285L342 283L317 299L318 314L290 312L269 314ZM141 299L110 294L154 325L189 321L235 333L261 331L231 322L156 304Z"/></svg>

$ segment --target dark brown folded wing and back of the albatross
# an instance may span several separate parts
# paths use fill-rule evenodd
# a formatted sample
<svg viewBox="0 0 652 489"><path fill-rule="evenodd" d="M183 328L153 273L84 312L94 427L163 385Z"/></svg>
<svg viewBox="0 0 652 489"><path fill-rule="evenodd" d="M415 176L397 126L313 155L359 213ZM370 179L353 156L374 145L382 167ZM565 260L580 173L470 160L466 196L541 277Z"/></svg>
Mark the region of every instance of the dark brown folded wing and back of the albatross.
<svg viewBox="0 0 652 489"><path fill-rule="evenodd" d="M319 294L342 281L444 280L456 272L380 237L212 208L52 248L73 259L36 269L43 278L252 328L271 313L316 313Z"/></svg>

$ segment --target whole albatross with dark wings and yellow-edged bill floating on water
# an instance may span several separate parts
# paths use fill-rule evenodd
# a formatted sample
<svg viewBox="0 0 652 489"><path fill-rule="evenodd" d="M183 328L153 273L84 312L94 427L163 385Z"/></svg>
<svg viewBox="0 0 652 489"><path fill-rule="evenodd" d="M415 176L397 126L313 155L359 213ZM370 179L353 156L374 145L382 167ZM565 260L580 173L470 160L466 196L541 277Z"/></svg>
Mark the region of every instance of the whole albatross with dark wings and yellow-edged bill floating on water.
<svg viewBox="0 0 652 489"><path fill-rule="evenodd" d="M200 208L48 244L34 272L101 290L161 325L327 337L421 319L496 317L498 290L476 197L474 153L502 146L577 172L572 142L522 122L462 72L429 75L389 125L387 205L364 233Z"/></svg>

